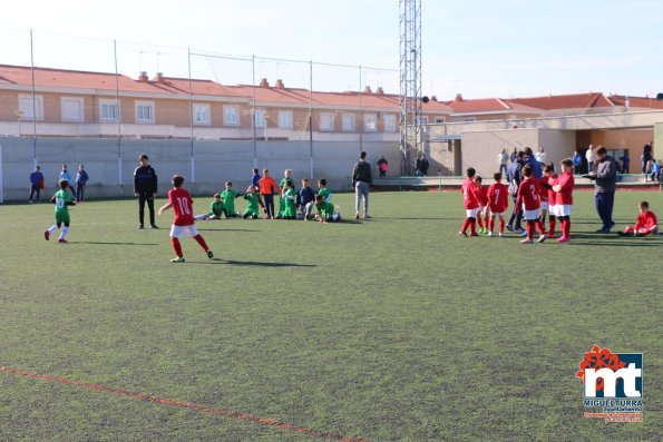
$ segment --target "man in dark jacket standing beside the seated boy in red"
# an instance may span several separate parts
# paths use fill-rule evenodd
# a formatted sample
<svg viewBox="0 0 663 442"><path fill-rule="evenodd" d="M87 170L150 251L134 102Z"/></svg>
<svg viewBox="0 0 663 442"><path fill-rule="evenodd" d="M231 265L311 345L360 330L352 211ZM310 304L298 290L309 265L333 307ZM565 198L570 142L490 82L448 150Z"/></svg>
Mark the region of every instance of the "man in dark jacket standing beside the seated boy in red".
<svg viewBox="0 0 663 442"><path fill-rule="evenodd" d="M601 146L596 149L596 170L591 171L588 177L594 180L594 202L596 212L603 222L603 227L596 232L610 233L615 225L613 222L613 206L617 187L617 161L607 155L605 147Z"/></svg>

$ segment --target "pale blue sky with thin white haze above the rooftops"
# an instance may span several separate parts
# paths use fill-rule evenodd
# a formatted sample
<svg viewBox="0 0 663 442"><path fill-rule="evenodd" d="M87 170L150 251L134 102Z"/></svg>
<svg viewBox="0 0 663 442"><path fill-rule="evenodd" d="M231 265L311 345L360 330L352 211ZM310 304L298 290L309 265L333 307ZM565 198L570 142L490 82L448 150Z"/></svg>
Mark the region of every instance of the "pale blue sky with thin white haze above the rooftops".
<svg viewBox="0 0 663 442"><path fill-rule="evenodd" d="M452 99L663 91L663 1L423 0L423 92ZM187 76L194 53L251 55L398 69L398 0L12 1L0 63ZM9 20L7 19L9 18ZM71 37L65 37L71 36ZM158 53L158 57L157 57ZM247 61L192 57L194 77L251 84ZM309 87L305 63L260 60L256 77ZM359 89L359 69L314 67L314 89ZM361 86L398 94L398 72Z"/></svg>

